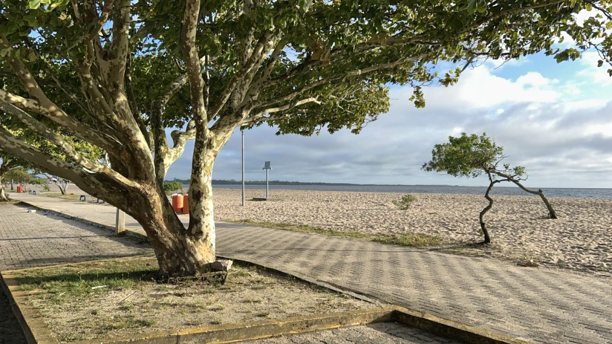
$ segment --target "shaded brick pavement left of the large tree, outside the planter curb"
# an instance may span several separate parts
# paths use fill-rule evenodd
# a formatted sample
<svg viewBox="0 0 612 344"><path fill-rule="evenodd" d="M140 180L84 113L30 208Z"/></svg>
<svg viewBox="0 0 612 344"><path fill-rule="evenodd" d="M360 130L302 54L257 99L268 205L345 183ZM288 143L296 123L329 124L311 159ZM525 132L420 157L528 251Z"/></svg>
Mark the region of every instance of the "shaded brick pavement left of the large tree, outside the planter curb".
<svg viewBox="0 0 612 344"><path fill-rule="evenodd" d="M152 253L149 245L82 222L0 203L0 270ZM0 290L0 343L25 343Z"/></svg>

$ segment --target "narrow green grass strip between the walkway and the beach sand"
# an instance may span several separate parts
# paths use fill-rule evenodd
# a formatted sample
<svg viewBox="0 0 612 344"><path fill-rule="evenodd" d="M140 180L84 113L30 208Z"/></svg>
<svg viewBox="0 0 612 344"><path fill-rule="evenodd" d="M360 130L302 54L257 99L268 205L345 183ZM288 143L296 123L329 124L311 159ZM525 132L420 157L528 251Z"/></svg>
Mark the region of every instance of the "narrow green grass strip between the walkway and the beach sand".
<svg viewBox="0 0 612 344"><path fill-rule="evenodd" d="M245 225L262 226L262 227L267 227L267 228L274 228L277 230L286 230L286 231L294 231L294 232L302 232L302 233L316 233L316 234L323 234L323 235L337 236L337 237L352 237L354 239L382 242L383 244L394 244L394 245L403 245L403 246L412 246L412 247L439 245L442 242L441 237L437 235L428 235L428 234L419 234L419 233L409 233L409 234L401 234L401 235L395 235L395 236L384 236L384 235L376 235L376 234L359 233L356 231L330 230L328 228L323 228L319 226L294 225L292 223L285 223L285 222L255 221L252 219L228 220L228 222L242 223Z"/></svg>

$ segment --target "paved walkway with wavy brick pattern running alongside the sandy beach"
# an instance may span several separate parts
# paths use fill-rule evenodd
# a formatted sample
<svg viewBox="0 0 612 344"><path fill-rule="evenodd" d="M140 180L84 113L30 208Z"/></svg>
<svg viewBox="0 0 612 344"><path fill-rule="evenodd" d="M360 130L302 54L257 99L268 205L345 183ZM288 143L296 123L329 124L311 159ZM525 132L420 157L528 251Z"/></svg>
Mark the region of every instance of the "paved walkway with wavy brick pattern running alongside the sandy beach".
<svg viewBox="0 0 612 344"><path fill-rule="evenodd" d="M110 206L17 197L114 223ZM612 343L608 277L231 223L217 223L217 252L531 342Z"/></svg>

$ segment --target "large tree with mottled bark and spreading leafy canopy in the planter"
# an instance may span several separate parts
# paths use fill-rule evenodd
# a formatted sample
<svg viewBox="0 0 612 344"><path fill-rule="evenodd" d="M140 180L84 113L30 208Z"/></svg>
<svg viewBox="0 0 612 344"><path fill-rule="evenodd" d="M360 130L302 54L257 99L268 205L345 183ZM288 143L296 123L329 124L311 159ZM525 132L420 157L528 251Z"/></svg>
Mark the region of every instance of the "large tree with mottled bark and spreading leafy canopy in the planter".
<svg viewBox="0 0 612 344"><path fill-rule="evenodd" d="M562 61L591 48L609 62L610 0L1 4L1 148L132 215L163 276L205 272L215 260L212 168L237 127L358 133L389 107L389 84L412 87L420 107L422 86L452 84L482 58L546 51ZM597 17L578 25L582 9ZM557 50L562 32L578 46ZM453 69L438 75L441 61ZM64 159L13 136L15 121ZM81 154L66 135L105 158ZM163 179L187 140L195 149L185 228Z"/></svg>

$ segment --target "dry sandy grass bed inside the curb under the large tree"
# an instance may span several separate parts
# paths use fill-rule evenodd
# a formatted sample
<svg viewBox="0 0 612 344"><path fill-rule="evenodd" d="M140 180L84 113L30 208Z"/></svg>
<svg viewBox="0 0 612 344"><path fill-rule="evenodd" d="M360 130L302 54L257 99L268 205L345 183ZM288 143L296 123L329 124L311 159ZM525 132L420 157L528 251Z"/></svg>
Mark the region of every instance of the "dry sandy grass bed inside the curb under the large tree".
<svg viewBox="0 0 612 344"><path fill-rule="evenodd" d="M374 307L256 266L234 264L226 283L155 279L153 257L18 272L20 288L60 341L112 338ZM95 288L98 287L98 288Z"/></svg>

